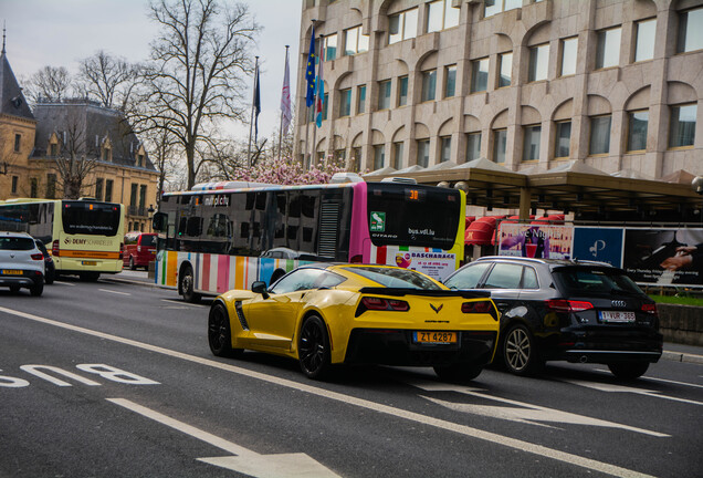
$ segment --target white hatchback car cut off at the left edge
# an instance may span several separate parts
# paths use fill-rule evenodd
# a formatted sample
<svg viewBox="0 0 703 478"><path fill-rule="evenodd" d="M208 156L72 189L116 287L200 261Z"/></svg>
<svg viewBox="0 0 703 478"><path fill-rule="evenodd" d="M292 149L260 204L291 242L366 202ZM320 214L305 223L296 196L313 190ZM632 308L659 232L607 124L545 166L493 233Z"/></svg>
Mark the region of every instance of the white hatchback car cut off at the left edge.
<svg viewBox="0 0 703 478"><path fill-rule="evenodd" d="M44 290L44 254L27 232L0 232L0 287L28 288L32 295Z"/></svg>

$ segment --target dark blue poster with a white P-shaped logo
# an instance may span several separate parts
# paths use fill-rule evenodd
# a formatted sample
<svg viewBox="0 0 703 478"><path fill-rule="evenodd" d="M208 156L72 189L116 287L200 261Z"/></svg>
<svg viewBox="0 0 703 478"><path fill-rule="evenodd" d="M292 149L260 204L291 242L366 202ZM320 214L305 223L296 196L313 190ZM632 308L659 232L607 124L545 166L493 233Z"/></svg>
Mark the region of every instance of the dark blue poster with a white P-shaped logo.
<svg viewBox="0 0 703 478"><path fill-rule="evenodd" d="M622 264L622 228L576 227L574 229L574 258Z"/></svg>

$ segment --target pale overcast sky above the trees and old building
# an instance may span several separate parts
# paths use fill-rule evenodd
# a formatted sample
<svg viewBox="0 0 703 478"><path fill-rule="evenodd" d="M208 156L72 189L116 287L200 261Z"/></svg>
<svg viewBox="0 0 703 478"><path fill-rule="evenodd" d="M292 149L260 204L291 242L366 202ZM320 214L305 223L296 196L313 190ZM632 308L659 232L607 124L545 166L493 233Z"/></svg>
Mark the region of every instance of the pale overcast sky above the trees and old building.
<svg viewBox="0 0 703 478"><path fill-rule="evenodd" d="M253 54L262 62L259 132L270 136L279 129L286 44L291 45L291 96L295 96L301 0L239 1L249 4L263 27ZM147 10L148 0L0 0L8 60L18 79L45 65L75 73L77 61L98 50L141 61L156 32ZM249 128L238 128L235 135L245 139Z"/></svg>

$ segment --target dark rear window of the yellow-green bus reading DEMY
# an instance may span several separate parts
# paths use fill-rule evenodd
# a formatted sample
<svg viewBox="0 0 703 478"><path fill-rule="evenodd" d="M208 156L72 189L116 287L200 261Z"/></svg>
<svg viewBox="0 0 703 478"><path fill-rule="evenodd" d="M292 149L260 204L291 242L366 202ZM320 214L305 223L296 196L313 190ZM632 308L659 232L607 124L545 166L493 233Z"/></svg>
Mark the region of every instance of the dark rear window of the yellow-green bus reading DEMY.
<svg viewBox="0 0 703 478"><path fill-rule="evenodd" d="M70 235L116 236L119 207L91 201L63 201L63 230Z"/></svg>

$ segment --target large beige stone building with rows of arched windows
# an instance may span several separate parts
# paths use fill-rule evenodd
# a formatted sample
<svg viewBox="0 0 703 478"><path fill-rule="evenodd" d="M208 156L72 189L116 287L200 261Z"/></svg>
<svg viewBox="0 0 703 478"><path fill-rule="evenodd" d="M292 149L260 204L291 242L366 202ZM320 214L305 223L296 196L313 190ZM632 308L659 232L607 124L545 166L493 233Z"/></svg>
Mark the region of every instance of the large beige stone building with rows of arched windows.
<svg viewBox="0 0 703 478"><path fill-rule="evenodd" d="M297 125L301 158L703 175L701 0L303 0L298 118L313 20L324 121Z"/></svg>

